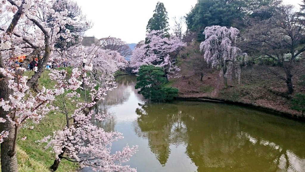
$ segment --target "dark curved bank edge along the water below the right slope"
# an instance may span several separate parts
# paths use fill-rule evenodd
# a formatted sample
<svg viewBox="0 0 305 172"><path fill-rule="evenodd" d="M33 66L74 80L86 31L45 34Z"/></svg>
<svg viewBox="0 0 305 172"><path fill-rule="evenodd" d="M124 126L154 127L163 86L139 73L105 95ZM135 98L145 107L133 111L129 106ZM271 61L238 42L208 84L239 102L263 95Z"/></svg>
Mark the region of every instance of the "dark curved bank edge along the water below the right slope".
<svg viewBox="0 0 305 172"><path fill-rule="evenodd" d="M269 107L262 107L262 106L252 104L252 103L244 103L244 102L232 101L232 100L227 100L227 99L215 99L215 98L210 98L210 97L177 97L176 99L183 100L183 101L212 102L212 103L226 103L226 104L232 104L232 105L239 105L239 106L250 107L250 108L257 109L257 110L261 110L263 112L268 112L268 113L271 113L276 116L281 116L284 118L289 118L289 119L305 122L305 117L298 116L296 114L291 114L289 112L285 112L282 110L276 110L276 109L269 108Z"/></svg>

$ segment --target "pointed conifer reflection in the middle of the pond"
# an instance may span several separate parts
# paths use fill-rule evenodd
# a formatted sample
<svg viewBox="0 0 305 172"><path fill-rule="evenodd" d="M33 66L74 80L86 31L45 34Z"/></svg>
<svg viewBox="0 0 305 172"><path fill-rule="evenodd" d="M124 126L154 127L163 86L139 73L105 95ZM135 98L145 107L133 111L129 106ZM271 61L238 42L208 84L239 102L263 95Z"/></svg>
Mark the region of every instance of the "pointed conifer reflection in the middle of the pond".
<svg viewBox="0 0 305 172"><path fill-rule="evenodd" d="M135 132L138 136L148 139L151 151L160 164L165 165L170 154L169 146L181 140L179 131L185 129L181 121L181 113L177 106L171 104L144 104L137 108L138 126Z"/></svg>

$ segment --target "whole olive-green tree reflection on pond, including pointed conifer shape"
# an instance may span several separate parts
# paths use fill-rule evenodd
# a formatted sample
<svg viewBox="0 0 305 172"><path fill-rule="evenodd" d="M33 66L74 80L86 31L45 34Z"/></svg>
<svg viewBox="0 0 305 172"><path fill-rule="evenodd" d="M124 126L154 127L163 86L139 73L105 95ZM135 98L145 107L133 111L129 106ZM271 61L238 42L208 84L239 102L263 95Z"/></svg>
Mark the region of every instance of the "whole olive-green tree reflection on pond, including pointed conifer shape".
<svg viewBox="0 0 305 172"><path fill-rule="evenodd" d="M305 171L303 124L212 103L145 104L136 113L135 132L162 165L171 144L185 143L199 172Z"/></svg>

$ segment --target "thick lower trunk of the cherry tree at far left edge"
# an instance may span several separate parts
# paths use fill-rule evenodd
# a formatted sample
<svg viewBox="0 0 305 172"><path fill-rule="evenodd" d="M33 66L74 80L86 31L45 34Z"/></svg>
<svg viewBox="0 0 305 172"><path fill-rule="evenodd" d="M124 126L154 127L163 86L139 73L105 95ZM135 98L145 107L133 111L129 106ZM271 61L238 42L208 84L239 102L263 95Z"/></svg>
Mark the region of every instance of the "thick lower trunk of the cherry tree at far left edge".
<svg viewBox="0 0 305 172"><path fill-rule="evenodd" d="M8 84L9 83L5 78L0 77L0 99L2 98L5 101L9 100L10 94L13 95L12 90L8 88ZM6 119L6 114L8 114L8 112L0 108L0 117ZM0 124L0 132L2 131L8 131L9 135L0 146L1 170L3 172L18 172L17 154L16 148L14 148L16 145L13 144L15 139L15 128L11 122L6 120L5 123Z"/></svg>

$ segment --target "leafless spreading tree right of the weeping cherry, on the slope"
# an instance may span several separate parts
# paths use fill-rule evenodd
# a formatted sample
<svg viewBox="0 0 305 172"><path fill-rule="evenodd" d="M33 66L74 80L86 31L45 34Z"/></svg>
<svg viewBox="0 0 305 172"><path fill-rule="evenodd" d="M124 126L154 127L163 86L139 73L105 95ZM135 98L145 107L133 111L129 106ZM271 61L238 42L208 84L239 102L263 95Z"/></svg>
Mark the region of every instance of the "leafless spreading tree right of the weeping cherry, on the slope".
<svg viewBox="0 0 305 172"><path fill-rule="evenodd" d="M292 69L296 58L305 51L305 6L298 12L291 5L279 5L272 17L262 21L253 20L244 32L244 45L249 52L258 53L259 58L273 59L285 72L269 71L287 84L287 93L293 92ZM258 59L258 58L257 58Z"/></svg>

